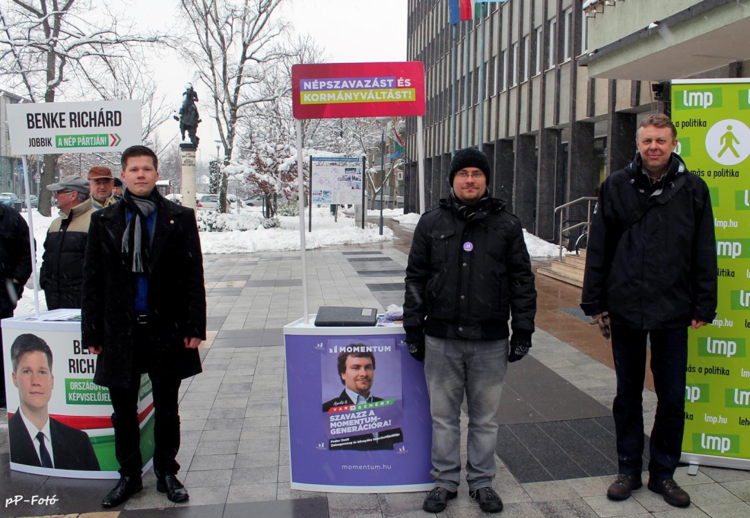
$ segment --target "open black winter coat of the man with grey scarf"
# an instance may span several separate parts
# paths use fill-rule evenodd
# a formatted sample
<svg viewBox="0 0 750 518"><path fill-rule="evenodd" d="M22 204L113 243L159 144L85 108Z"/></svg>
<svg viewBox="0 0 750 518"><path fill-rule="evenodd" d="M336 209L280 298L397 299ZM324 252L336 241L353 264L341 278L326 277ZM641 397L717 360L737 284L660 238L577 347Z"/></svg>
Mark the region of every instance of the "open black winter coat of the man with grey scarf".
<svg viewBox="0 0 750 518"><path fill-rule="evenodd" d="M83 277L83 346L101 346L94 381L127 387L133 356L136 274L122 253L126 205L118 202L92 214ZM148 332L151 374L185 379L201 372L197 349L185 337L205 340L205 285L198 228L192 209L158 197L148 276Z"/></svg>

